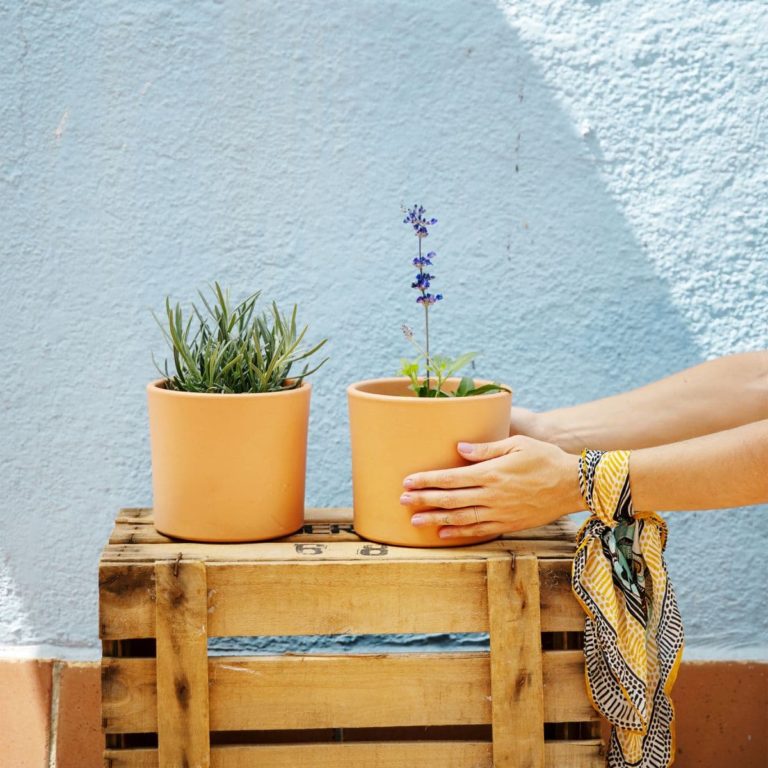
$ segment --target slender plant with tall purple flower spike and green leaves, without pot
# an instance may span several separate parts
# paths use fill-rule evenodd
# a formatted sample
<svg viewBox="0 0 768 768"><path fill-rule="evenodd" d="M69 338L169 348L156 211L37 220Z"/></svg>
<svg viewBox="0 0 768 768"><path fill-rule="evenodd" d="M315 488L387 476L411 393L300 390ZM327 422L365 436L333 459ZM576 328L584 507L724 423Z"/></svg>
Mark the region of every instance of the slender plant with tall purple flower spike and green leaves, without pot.
<svg viewBox="0 0 768 768"><path fill-rule="evenodd" d="M413 228L414 234L419 241L419 255L411 262L414 267L418 268L418 273L411 283L411 288L415 288L419 295L416 297L416 302L420 304L424 309L424 339L425 344L422 347L414 336L413 330L403 325L403 335L418 351L418 356L413 359L403 358L400 361L400 375L407 376L411 383L409 389L415 392L419 397L470 397L472 395L484 395L490 392L508 392L506 387L500 384L483 384L476 387L474 379L471 376L462 376L459 382L459 386L454 391L446 391L443 389L446 381L456 376L459 371L469 365L477 353L469 352L465 355L459 355L459 357L451 358L445 355L432 355L429 349L429 311L437 304L438 301L443 300L442 293L430 293L429 289L432 287L432 281L435 276L427 271L427 267L433 266L432 261L437 254L434 251L429 251L426 255L423 253L423 241L424 238L429 237L429 227L437 224L437 219L428 218L426 216L426 210L422 205L414 205L413 208L404 208L403 212L406 214L403 219L403 224L410 224ZM421 373L421 366L424 365L424 374ZM432 378L434 377L435 385L432 386Z"/></svg>

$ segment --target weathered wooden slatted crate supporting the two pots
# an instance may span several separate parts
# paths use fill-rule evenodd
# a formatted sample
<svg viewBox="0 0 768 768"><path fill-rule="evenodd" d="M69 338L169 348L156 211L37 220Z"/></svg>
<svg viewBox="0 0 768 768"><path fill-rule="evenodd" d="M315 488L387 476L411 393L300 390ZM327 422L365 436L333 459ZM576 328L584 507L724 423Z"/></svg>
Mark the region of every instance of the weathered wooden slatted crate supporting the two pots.
<svg viewBox="0 0 768 768"><path fill-rule="evenodd" d="M99 566L109 768L597 768L561 522L408 549L310 510L276 542L197 544L121 510ZM489 652L209 655L209 637L490 634Z"/></svg>

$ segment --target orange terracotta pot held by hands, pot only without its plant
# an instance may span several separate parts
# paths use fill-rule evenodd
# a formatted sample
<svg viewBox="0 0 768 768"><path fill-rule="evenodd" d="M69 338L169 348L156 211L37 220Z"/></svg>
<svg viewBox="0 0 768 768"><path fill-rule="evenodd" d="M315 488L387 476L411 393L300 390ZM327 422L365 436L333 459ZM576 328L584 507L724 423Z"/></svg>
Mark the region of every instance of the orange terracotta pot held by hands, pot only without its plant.
<svg viewBox="0 0 768 768"><path fill-rule="evenodd" d="M458 383L451 379L448 386ZM441 539L437 527L416 528L400 496L403 479L413 472L469 464L456 450L460 441L508 437L511 393L424 398L408 384L405 378L373 379L347 389L355 530L366 539L407 547L490 541L495 537Z"/></svg>

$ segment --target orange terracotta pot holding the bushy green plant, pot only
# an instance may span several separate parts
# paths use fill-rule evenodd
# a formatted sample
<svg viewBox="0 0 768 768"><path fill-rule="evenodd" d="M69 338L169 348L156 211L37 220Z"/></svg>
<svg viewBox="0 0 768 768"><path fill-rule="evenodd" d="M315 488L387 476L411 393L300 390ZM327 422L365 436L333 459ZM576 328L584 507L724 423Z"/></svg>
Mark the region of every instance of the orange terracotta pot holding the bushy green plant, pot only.
<svg viewBox="0 0 768 768"><path fill-rule="evenodd" d="M304 521L311 385L258 394L147 387L155 527L192 541L263 541Z"/></svg>

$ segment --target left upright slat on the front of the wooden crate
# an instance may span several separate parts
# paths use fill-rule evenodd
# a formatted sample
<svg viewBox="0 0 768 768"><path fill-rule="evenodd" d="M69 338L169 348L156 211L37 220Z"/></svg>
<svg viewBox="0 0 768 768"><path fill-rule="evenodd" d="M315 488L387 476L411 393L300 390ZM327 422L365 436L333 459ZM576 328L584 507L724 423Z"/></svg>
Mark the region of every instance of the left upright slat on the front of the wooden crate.
<svg viewBox="0 0 768 768"><path fill-rule="evenodd" d="M204 563L156 563L157 730L161 768L208 768Z"/></svg>

